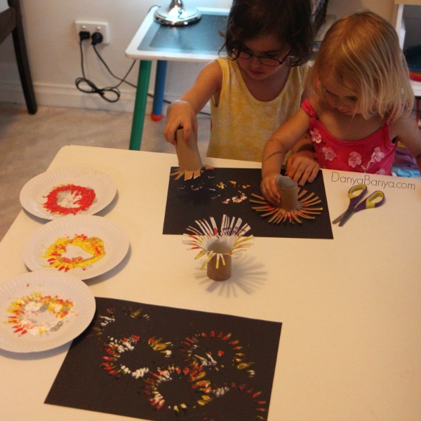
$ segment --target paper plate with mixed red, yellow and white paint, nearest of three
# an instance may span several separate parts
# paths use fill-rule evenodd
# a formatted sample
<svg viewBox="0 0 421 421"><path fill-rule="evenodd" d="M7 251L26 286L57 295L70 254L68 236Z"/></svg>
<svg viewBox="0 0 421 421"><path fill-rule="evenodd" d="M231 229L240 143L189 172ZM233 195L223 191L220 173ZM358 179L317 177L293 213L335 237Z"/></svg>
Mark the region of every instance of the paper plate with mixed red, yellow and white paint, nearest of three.
<svg viewBox="0 0 421 421"><path fill-rule="evenodd" d="M0 283L0 348L39 352L80 335L95 298L76 276L41 269Z"/></svg>

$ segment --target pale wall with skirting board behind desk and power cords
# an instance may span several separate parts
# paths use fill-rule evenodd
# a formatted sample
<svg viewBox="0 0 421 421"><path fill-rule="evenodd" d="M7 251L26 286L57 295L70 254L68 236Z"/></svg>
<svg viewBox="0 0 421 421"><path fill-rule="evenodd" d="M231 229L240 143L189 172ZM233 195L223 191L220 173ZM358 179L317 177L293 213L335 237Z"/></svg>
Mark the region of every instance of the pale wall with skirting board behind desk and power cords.
<svg viewBox="0 0 421 421"><path fill-rule="evenodd" d="M159 4L167 3L170 0L162 0ZM229 8L232 1L185 0L184 3L186 6ZM123 76L132 62L126 58L124 51L154 4L158 3L154 0L22 0L29 62L39 105L133 111L135 90L130 86L121 86L121 100L113 104L105 102L98 95L86 95L76 90L74 80L81 76L81 58L74 22L93 20L109 23L111 43L98 46L98 51L112 72ZM0 0L0 11L4 8L6 0ZM341 16L361 8L370 8L392 20L393 0L330 0L328 11ZM117 83L100 65L88 43L83 51L86 76L89 79L101 87ZM173 100L185 91L201 67L169 62L166 98ZM138 65L128 80L136 83L137 74ZM152 91L154 78L151 79ZM0 101L23 102L11 37L0 46Z"/></svg>

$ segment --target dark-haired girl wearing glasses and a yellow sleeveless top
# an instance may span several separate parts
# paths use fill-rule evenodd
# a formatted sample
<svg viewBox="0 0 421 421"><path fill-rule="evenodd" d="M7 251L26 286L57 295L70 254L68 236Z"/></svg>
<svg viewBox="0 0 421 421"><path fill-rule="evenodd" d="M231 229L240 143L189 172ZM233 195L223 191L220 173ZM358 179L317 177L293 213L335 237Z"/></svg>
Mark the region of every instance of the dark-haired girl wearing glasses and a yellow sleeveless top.
<svg viewBox="0 0 421 421"><path fill-rule="evenodd" d="M227 56L206 65L168 106L166 140L174 144L180 126L186 142L196 135L196 115L210 100L208 156L261 161L267 138L306 96L312 42L310 0L234 0L222 47ZM314 166L312 152L302 154Z"/></svg>

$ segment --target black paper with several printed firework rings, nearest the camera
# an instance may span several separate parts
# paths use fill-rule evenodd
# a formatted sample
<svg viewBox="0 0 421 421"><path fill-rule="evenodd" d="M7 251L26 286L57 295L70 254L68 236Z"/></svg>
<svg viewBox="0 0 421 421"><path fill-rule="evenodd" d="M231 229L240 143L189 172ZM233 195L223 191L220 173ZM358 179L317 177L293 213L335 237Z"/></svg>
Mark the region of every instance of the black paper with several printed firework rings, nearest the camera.
<svg viewBox="0 0 421 421"><path fill-rule="evenodd" d="M281 323L95 300L46 403L153 421L267 419Z"/></svg>

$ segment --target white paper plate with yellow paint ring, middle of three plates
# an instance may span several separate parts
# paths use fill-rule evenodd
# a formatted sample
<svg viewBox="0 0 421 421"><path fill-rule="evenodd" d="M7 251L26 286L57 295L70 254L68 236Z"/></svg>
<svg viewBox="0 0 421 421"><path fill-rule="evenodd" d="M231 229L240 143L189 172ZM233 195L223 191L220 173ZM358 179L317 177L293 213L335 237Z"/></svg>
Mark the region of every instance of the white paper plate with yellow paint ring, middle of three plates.
<svg viewBox="0 0 421 421"><path fill-rule="evenodd" d="M81 236L86 236L86 239ZM79 243L76 238L80 239ZM62 248L58 254L46 255L48 248L57 245L59 239L62 239ZM92 261L95 251L83 250L83 246L92 243L91 239L102 241L102 247L98 248L98 255L102 258L95 262ZM118 265L128 246L128 236L111 220L93 215L68 215L37 229L24 246L23 260L31 270L48 268L68 272L79 279L89 279ZM79 265L69 264L69 259L79 257L83 260ZM91 264L88 265L89 261Z"/></svg>

